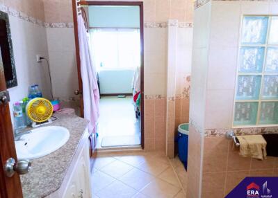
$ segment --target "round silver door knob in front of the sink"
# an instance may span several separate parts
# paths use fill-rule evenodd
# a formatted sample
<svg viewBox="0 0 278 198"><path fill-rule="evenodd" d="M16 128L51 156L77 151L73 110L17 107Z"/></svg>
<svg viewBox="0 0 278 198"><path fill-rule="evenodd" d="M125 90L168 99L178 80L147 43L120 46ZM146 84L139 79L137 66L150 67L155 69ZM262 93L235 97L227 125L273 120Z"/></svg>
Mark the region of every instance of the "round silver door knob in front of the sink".
<svg viewBox="0 0 278 198"><path fill-rule="evenodd" d="M15 172L17 172L17 174L26 174L30 169L31 161L28 161L27 159L19 160L16 163L15 159L9 158L4 166L4 171L7 177L13 177Z"/></svg>

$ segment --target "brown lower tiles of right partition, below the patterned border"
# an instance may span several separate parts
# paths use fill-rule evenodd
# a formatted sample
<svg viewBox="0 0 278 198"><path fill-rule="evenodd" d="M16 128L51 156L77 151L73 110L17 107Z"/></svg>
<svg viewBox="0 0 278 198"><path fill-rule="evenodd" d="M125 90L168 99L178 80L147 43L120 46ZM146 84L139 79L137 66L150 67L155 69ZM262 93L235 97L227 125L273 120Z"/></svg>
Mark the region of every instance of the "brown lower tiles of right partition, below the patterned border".
<svg viewBox="0 0 278 198"><path fill-rule="evenodd" d="M260 161L239 156L238 152L223 136L204 138L202 197L222 198L245 177L278 177L277 157Z"/></svg>

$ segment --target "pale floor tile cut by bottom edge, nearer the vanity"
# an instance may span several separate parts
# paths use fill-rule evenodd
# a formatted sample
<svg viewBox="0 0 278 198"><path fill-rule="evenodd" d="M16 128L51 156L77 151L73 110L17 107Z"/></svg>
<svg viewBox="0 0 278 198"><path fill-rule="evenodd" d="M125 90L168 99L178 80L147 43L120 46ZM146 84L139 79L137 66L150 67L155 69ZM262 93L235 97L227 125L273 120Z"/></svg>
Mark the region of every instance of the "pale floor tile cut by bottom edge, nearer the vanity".
<svg viewBox="0 0 278 198"><path fill-rule="evenodd" d="M114 181L106 188L97 192L99 198L131 198L136 195L137 191L126 186L120 181Z"/></svg>

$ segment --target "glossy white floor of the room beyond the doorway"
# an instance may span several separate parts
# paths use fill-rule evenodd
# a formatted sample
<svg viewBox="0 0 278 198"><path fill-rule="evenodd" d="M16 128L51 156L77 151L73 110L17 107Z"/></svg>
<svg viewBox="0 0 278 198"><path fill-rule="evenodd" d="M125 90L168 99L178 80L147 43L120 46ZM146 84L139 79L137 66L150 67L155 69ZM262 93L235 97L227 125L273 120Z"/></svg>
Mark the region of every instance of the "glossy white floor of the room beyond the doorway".
<svg viewBox="0 0 278 198"><path fill-rule="evenodd" d="M99 112L98 149L101 149L101 145L140 145L140 120L136 119L132 96L101 97Z"/></svg>

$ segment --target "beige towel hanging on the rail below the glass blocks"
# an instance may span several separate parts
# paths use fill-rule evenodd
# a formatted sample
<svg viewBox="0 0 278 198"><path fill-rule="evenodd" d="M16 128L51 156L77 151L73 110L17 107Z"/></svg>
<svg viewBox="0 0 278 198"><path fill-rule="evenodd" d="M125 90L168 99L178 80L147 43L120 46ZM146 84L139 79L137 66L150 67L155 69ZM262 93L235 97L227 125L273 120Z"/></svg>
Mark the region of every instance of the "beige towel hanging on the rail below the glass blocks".
<svg viewBox="0 0 278 198"><path fill-rule="evenodd" d="M261 135L236 136L240 143L240 155L266 159L266 141Z"/></svg>

